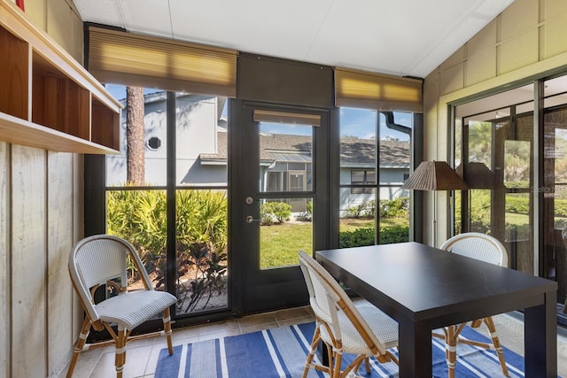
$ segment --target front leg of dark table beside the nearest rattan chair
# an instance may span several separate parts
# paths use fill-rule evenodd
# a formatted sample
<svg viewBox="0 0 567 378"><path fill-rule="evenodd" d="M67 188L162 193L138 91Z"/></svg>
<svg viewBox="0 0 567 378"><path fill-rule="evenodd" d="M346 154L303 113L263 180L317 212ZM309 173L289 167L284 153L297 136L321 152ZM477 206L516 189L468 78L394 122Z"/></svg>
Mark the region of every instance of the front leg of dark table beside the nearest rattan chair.
<svg viewBox="0 0 567 378"><path fill-rule="evenodd" d="M400 378L431 378L431 327L413 321L399 321Z"/></svg>

